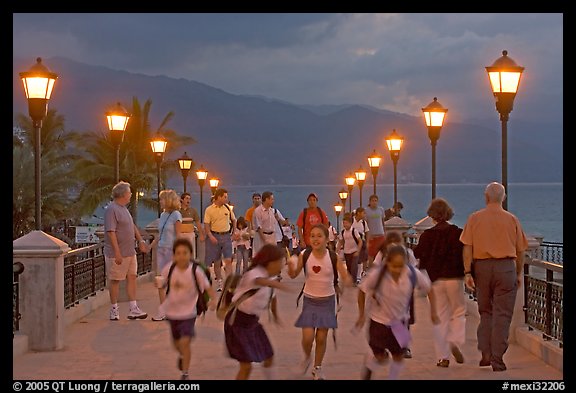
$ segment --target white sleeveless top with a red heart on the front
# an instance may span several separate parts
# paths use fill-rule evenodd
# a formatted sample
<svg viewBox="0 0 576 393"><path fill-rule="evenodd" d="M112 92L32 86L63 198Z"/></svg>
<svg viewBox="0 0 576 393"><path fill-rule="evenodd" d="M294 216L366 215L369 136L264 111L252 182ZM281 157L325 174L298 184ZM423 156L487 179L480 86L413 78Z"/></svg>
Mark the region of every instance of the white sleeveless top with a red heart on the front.
<svg viewBox="0 0 576 393"><path fill-rule="evenodd" d="M304 251L301 253L304 254ZM304 284L304 294L311 297L332 296L334 291L334 270L330 253L326 249L326 254L321 259L311 252L306 261L306 281Z"/></svg>

